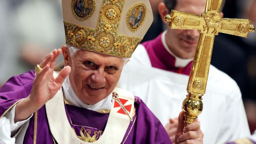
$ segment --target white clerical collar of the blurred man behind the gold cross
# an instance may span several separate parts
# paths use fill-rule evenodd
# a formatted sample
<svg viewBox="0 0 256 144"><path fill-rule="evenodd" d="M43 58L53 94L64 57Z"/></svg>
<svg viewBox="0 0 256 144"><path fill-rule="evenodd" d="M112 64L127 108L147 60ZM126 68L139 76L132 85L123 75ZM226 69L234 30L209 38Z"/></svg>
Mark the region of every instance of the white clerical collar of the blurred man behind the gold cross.
<svg viewBox="0 0 256 144"><path fill-rule="evenodd" d="M166 39L165 39L165 35L166 35L167 30L165 30L161 36L161 40L163 43L163 46L165 47L165 49L175 58L175 67L186 67L191 61L193 61L194 58L190 58L190 59L182 59L179 58L178 56L176 56L173 52L171 52L171 50L169 49L169 47L167 46L166 43Z"/></svg>

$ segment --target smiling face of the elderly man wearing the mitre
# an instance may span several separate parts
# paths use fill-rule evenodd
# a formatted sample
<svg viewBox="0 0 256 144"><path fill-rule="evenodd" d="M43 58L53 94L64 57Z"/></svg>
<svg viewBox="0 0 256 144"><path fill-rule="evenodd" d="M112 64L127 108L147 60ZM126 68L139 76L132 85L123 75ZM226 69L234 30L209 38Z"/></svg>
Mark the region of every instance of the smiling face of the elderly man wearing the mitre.
<svg viewBox="0 0 256 144"><path fill-rule="evenodd" d="M120 78L124 60L105 54L78 50L74 57L65 57L71 67L69 80L78 98L86 104L95 104L106 98Z"/></svg>

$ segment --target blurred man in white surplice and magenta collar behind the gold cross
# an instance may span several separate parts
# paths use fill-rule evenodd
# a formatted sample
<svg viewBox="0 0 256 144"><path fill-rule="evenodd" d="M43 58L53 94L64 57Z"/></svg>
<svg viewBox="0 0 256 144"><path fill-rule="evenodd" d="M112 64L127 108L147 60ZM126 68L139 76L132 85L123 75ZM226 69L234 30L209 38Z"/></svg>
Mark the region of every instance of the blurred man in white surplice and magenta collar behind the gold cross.
<svg viewBox="0 0 256 144"><path fill-rule="evenodd" d="M201 15L205 11L205 0L165 0L158 8L162 21L171 9ZM197 30L168 27L154 40L137 47L119 80L122 89L139 95L161 123L167 124L172 141L178 125L177 116L187 95L187 81L198 39ZM224 143L250 135L239 87L212 65L203 105L198 119L204 143Z"/></svg>

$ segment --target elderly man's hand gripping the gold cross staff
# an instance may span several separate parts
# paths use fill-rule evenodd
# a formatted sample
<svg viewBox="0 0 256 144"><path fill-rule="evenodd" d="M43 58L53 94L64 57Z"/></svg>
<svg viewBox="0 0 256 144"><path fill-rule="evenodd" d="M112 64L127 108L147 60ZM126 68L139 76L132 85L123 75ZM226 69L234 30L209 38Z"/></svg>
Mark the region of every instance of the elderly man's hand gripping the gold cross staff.
<svg viewBox="0 0 256 144"><path fill-rule="evenodd" d="M203 143L203 132L200 129L200 123L198 121L195 121L184 128L183 112L179 113L178 121L175 144Z"/></svg>

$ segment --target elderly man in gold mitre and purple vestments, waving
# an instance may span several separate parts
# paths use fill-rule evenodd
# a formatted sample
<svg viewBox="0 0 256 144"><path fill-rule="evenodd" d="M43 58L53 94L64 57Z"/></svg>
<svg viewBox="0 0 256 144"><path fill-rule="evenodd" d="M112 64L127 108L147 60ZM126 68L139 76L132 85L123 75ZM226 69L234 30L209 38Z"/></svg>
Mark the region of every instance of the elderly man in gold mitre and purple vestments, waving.
<svg viewBox="0 0 256 144"><path fill-rule="evenodd" d="M0 143L171 143L139 97L115 88L152 22L149 1L88 0L77 15L78 2L62 1L65 67L54 71L61 50L53 50L0 90ZM184 128L180 113L175 143L202 137L199 122Z"/></svg>

